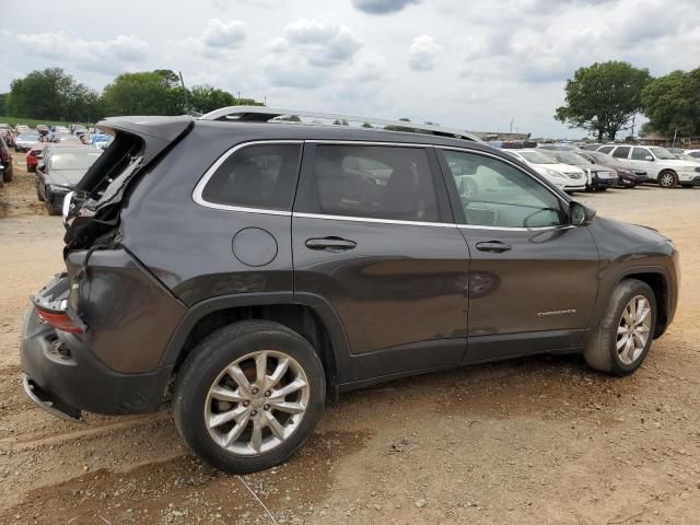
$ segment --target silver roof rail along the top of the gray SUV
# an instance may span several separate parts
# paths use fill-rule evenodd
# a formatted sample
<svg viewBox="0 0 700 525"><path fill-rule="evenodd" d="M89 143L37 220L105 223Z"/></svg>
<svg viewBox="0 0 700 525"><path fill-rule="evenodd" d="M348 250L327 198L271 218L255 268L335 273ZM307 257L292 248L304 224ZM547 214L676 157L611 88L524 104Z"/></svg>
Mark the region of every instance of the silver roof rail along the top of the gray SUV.
<svg viewBox="0 0 700 525"><path fill-rule="evenodd" d="M284 116L324 118L328 120L347 120L349 122L369 122L377 126L394 126L402 128L411 132L416 130L428 131L431 135L440 137L450 137L454 139L471 140L474 142L482 142L476 135L459 129L443 128L442 126L433 126L430 124L417 124L406 120L387 120L384 118L360 117L357 115L343 115L340 113L319 113L308 112L304 109L280 109L267 106L228 106L214 109L199 117L200 120L235 120L248 122L267 122L275 118Z"/></svg>

